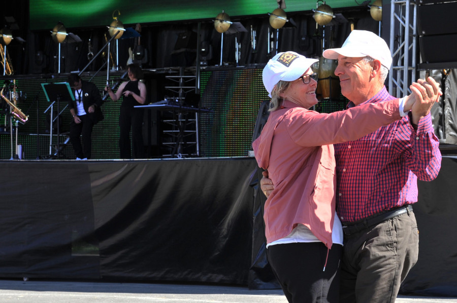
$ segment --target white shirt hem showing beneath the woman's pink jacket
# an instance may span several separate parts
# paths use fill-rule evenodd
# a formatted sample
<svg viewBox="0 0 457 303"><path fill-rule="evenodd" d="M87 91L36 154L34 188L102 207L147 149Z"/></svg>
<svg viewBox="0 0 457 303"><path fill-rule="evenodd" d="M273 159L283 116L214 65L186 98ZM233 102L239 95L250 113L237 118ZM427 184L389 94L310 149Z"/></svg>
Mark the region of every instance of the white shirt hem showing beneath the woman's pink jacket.
<svg viewBox="0 0 457 303"><path fill-rule="evenodd" d="M303 224L298 224L295 229L292 230L292 232L279 240L273 241L269 244L267 244L267 248L270 245L276 245L276 244L286 244L286 243L309 243L309 242L320 242L319 239L317 239L316 236L310 231L309 228L307 228ZM343 245L343 228L341 227L341 221L338 218L336 212L335 212L335 220L333 221L333 230L332 230L332 242L334 244L341 244Z"/></svg>

